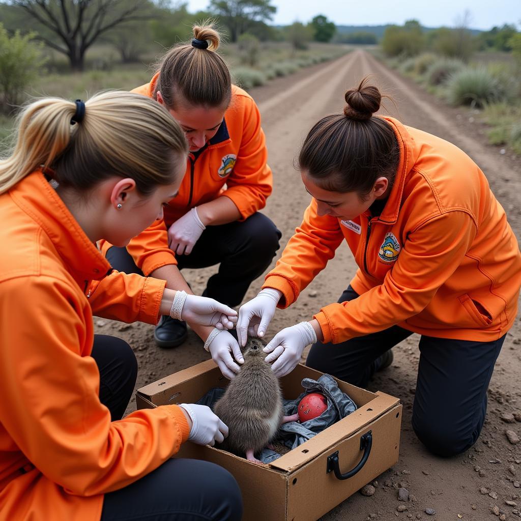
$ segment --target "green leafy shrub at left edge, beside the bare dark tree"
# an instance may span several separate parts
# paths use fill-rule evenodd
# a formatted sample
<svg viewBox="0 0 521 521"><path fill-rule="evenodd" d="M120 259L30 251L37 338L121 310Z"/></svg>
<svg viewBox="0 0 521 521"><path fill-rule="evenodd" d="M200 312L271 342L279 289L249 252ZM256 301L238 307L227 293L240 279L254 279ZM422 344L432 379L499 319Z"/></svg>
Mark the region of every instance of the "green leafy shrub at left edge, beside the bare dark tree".
<svg viewBox="0 0 521 521"><path fill-rule="evenodd" d="M36 78L45 63L42 44L32 41L36 33L9 38L0 23L0 111L8 113L23 100L24 89Z"/></svg>

